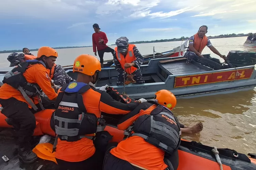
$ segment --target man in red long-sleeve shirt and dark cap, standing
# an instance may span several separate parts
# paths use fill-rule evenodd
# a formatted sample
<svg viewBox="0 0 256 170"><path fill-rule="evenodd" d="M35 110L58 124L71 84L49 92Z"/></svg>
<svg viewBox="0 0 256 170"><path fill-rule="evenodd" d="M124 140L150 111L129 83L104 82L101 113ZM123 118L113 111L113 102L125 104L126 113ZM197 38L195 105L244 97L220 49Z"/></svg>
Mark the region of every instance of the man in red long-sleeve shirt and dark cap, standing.
<svg viewBox="0 0 256 170"><path fill-rule="evenodd" d="M108 38L106 36L106 33L100 31L99 25L97 23L93 24L93 29L95 33L93 33L93 52L97 56L97 51L100 57L100 64L101 68L103 68L103 55L105 52L112 54L114 53L114 49L108 47L106 44L108 43Z"/></svg>

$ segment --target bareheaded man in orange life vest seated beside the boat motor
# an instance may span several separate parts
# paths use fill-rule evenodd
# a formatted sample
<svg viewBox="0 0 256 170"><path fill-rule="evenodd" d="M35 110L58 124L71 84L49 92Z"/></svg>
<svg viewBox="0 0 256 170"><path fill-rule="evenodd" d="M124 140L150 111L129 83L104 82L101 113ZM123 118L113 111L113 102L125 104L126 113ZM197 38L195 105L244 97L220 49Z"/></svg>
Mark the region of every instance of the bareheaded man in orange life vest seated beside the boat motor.
<svg viewBox="0 0 256 170"><path fill-rule="evenodd" d="M216 48L213 47L210 39L205 35L208 32L207 30L207 26L201 26L198 32L189 38L188 50L184 55L187 58L187 65L191 64L191 60L198 61L199 57L203 57L201 53L205 46L209 47L212 52L222 57L223 59L226 58L225 55L222 55L218 52L218 50L216 50Z"/></svg>

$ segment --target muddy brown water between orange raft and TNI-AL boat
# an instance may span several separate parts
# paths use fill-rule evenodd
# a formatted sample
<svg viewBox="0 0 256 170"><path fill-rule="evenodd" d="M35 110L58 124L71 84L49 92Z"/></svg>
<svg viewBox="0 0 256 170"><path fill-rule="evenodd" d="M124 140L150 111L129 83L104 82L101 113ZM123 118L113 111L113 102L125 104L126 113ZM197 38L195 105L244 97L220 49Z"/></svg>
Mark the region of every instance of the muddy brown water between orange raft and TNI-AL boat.
<svg viewBox="0 0 256 170"><path fill-rule="evenodd" d="M173 113L187 126L202 122L204 129L183 139L204 145L256 153L256 91L240 91L193 99L178 99Z"/></svg>

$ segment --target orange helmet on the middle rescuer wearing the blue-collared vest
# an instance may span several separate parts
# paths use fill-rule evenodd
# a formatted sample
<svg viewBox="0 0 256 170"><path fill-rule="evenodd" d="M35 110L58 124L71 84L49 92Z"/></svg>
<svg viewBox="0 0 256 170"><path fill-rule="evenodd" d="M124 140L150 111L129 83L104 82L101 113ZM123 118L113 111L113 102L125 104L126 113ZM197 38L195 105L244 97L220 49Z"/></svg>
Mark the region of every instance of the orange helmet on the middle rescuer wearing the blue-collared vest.
<svg viewBox="0 0 256 170"><path fill-rule="evenodd" d="M100 61L92 55L81 54L75 58L73 72L75 71L92 76L96 71L101 71Z"/></svg>

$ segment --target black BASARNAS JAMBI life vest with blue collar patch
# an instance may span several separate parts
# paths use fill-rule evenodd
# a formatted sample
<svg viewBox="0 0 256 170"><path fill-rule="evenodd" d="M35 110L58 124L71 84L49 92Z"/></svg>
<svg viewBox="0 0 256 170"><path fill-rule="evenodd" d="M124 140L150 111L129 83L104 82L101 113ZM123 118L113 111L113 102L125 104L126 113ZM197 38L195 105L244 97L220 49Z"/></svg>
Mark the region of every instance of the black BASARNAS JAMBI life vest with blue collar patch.
<svg viewBox="0 0 256 170"><path fill-rule="evenodd" d="M72 142L84 137L94 139L86 135L104 130L104 119L98 119L95 114L86 111L82 94L89 89L90 86L82 82L70 82L60 89L62 92L56 99L56 111L51 117L51 128L60 140Z"/></svg>

